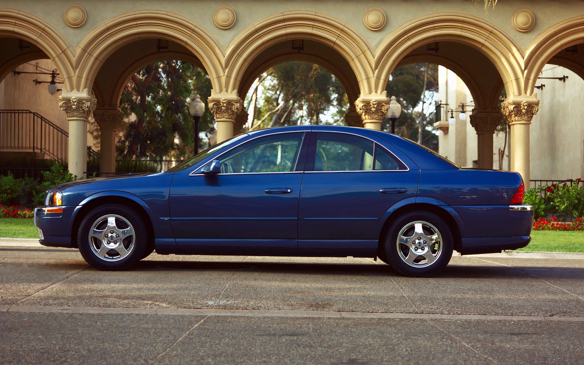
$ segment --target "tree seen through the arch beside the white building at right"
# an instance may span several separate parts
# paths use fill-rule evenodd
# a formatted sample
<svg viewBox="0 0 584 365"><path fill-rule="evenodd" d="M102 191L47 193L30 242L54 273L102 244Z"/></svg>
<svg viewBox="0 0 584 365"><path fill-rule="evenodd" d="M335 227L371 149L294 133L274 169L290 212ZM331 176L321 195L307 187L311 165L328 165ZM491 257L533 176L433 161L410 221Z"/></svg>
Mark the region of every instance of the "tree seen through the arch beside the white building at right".
<svg viewBox="0 0 584 365"><path fill-rule="evenodd" d="M432 100L438 92L438 66L415 63L399 67L391 73L385 90L402 106L395 133L436 150L438 138L431 121L435 109ZM415 110L418 107L420 110ZM391 121L385 118L382 128L390 130Z"/></svg>

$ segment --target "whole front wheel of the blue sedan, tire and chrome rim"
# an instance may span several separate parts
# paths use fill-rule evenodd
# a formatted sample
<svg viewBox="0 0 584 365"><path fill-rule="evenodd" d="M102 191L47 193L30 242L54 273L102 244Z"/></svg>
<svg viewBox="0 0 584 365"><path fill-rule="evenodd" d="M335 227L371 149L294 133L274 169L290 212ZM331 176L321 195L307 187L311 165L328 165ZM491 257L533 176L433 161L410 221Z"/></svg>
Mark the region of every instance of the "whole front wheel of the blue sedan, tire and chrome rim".
<svg viewBox="0 0 584 365"><path fill-rule="evenodd" d="M99 270L126 270L148 249L144 221L121 204L93 208L79 225L77 242L81 256Z"/></svg>

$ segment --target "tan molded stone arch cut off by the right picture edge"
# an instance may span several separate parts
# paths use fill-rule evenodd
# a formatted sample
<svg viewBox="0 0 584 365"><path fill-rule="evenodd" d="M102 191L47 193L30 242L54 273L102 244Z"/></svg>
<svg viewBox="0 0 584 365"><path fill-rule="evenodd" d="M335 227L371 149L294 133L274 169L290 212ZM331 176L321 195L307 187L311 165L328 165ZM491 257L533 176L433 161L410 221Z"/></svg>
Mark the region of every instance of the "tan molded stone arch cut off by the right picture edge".
<svg viewBox="0 0 584 365"><path fill-rule="evenodd" d="M584 43L584 16L582 15L562 20L541 32L527 47L525 53L525 93L533 94L538 75L552 57L565 48L582 43ZM571 68L569 62L562 62L562 66ZM582 73L582 69L573 71L579 75Z"/></svg>

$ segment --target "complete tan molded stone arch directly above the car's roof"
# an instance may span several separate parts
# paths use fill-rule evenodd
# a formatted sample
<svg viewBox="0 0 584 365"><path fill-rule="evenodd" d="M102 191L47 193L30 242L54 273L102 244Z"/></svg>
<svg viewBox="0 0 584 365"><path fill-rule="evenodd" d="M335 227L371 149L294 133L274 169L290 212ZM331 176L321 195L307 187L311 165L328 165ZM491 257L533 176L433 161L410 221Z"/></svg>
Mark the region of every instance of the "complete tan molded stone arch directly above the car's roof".
<svg viewBox="0 0 584 365"><path fill-rule="evenodd" d="M225 50L224 90L237 91L246 69L263 50L293 39L310 39L338 51L349 62L360 92L373 91L373 53L367 41L346 23L307 11L278 13L239 33Z"/></svg>

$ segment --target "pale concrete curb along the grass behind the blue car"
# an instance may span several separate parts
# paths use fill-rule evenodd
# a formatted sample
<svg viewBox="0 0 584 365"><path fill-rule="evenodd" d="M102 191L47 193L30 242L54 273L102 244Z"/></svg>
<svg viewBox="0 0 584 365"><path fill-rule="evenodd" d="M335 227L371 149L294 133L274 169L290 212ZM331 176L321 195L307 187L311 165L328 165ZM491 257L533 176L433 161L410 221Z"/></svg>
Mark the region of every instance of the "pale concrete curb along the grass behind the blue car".
<svg viewBox="0 0 584 365"><path fill-rule="evenodd" d="M39 244L36 238L4 238L0 237L0 247L45 247ZM454 251L452 256L460 257ZM517 259L576 259L584 260L584 252L538 252L538 251L503 251L501 253L479 253L478 255L464 255L485 258L517 258Z"/></svg>

